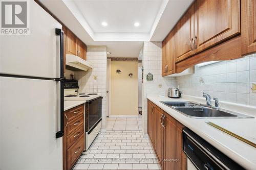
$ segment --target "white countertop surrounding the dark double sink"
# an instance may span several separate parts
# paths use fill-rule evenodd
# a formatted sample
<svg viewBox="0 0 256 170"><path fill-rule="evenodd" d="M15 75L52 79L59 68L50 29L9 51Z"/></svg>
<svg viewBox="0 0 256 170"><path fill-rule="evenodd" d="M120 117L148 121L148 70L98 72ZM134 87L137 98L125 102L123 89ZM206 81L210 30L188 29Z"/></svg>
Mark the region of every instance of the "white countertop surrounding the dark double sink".
<svg viewBox="0 0 256 170"><path fill-rule="evenodd" d="M171 99L167 97L159 97L159 96L147 96L147 99L152 101L154 104L156 104L158 107L163 109L166 113L176 118L180 123L182 123L185 127L189 128L190 130L194 131L196 134L198 134L200 137L205 139L207 142L209 142L211 145L213 145L215 148L226 154L229 158L240 164L246 169L255 169L256 167L256 148L252 147L251 145L234 138L225 132L222 132L208 124L205 123L205 120L207 118L190 118L187 117L176 110L169 108L168 106L160 103L160 101L187 101L186 99ZM195 101L189 99L189 101ZM200 102L200 101L195 101ZM227 104L222 104L223 107L225 106L226 110L232 110L234 111L234 107L232 109L228 109ZM220 105L221 106L221 105ZM237 108L238 107L238 108ZM221 107L222 108L222 107ZM248 114L252 111L254 113L256 112L256 109L254 107L249 107L248 109L245 106L236 106L237 110L245 110L244 112L239 112L242 114ZM240 108L240 109L239 109ZM241 109L242 108L242 109ZM238 112L238 111L237 111ZM255 115L254 115L255 117ZM222 120L223 118L208 118L208 120L214 120L215 122L218 122L218 120ZM248 129L253 128L250 127L248 124L246 124L246 119L244 118L236 118L236 124L233 124L234 118L225 118L226 124L229 124L230 126L243 126L247 127ZM241 120L241 121L240 121ZM255 121L256 124L256 118L254 119L248 119L248 121ZM251 125L251 124L250 124ZM255 129L256 130L256 129ZM256 135L256 133L255 133Z"/></svg>

